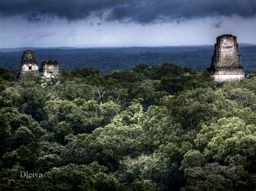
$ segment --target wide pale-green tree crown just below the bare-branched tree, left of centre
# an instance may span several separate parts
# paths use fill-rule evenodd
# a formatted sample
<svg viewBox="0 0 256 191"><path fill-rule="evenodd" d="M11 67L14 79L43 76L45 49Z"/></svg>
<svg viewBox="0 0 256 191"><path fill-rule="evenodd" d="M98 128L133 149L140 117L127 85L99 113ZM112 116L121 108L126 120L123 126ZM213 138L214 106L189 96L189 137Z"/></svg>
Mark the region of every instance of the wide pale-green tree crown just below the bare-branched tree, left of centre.
<svg viewBox="0 0 256 191"><path fill-rule="evenodd" d="M91 132L99 126L110 123L119 110L119 105L107 102L102 105L96 101L77 98L73 101L54 100L45 103L45 112L56 123L53 128L56 136L66 136L75 132ZM62 130L60 130L62 129Z"/></svg>

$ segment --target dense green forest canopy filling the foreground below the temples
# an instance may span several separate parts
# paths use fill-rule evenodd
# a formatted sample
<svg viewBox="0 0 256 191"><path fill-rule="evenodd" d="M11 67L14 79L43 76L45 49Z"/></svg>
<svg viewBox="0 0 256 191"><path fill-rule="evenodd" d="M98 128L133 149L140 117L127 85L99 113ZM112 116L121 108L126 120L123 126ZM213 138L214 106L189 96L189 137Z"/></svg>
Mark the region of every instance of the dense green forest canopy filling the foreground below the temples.
<svg viewBox="0 0 256 191"><path fill-rule="evenodd" d="M255 74L216 86L174 63L17 73L0 68L1 190L256 189Z"/></svg>

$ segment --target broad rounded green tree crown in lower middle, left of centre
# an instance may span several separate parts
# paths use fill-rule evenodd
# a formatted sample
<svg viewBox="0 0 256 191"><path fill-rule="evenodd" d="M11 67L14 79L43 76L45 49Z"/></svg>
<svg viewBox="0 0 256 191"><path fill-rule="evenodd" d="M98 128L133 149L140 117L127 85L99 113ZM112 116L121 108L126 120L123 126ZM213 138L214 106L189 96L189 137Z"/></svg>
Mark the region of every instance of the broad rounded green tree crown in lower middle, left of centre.
<svg viewBox="0 0 256 191"><path fill-rule="evenodd" d="M97 128L84 139L93 152L93 159L114 168L125 155L138 155L142 152L142 127L110 124Z"/></svg>

